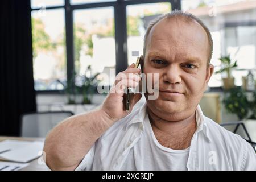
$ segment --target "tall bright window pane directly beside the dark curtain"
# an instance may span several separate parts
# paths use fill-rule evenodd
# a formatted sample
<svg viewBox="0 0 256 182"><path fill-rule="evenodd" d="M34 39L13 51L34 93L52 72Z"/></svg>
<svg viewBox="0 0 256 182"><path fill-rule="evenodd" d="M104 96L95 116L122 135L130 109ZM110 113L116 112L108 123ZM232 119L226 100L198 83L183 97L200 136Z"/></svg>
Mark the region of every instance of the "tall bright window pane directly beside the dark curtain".
<svg viewBox="0 0 256 182"><path fill-rule="evenodd" d="M67 82L64 17L64 9L31 13L35 90L63 90Z"/></svg>

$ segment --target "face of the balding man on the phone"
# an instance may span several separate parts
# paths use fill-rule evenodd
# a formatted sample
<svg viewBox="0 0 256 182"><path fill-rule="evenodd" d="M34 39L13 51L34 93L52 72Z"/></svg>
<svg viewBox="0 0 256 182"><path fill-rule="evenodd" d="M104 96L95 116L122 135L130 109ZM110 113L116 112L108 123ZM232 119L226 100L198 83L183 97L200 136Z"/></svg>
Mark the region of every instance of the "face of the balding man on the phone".
<svg viewBox="0 0 256 182"><path fill-rule="evenodd" d="M144 55L144 73L159 73L159 97L149 109L167 121L191 116L213 73L207 67L208 39L197 22L162 19L151 30ZM154 78L153 78L154 79Z"/></svg>

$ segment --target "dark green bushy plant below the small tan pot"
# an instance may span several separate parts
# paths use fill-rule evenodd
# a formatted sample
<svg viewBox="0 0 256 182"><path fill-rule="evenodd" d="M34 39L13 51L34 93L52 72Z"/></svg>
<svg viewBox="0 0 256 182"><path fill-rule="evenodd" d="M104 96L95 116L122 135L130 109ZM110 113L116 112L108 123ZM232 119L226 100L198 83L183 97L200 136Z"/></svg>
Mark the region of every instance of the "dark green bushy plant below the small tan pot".
<svg viewBox="0 0 256 182"><path fill-rule="evenodd" d="M225 92L224 105L229 113L234 113L239 119L246 119L250 110L250 102L247 100L245 90L234 87Z"/></svg>

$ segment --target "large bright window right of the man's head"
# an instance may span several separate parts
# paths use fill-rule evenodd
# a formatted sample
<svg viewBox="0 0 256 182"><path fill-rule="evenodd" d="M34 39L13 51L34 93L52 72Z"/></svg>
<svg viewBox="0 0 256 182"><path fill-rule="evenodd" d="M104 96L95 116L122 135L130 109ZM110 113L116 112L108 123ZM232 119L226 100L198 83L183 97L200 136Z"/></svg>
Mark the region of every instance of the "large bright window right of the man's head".
<svg viewBox="0 0 256 182"><path fill-rule="evenodd" d="M181 9L199 17L212 32L215 71L221 68L218 58L229 55L237 60L233 72L235 84L256 65L256 1L255 0L183 0ZM214 74L209 86L221 86L224 74Z"/></svg>

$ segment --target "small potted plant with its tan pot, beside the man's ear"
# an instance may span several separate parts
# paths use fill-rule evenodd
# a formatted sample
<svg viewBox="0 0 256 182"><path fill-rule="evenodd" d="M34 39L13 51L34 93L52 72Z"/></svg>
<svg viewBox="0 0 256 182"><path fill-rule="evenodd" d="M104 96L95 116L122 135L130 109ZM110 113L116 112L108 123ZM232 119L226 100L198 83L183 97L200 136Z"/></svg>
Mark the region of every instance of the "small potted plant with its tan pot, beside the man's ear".
<svg viewBox="0 0 256 182"><path fill-rule="evenodd" d="M237 61L234 61L234 63L232 63L230 55L222 56L219 58L219 60L221 61L222 68L216 73L226 72L226 77L222 78L222 82L224 90L228 90L234 87L234 77L232 76L232 69L237 67Z"/></svg>

